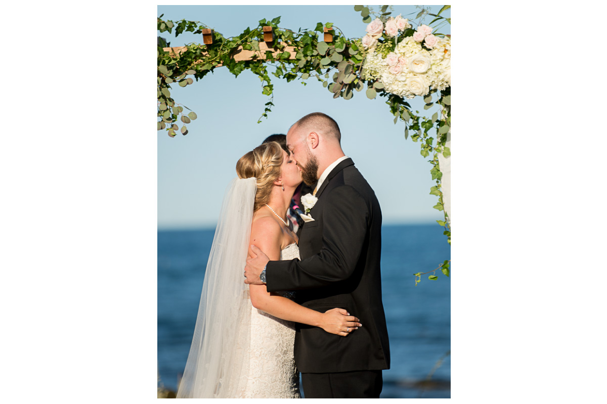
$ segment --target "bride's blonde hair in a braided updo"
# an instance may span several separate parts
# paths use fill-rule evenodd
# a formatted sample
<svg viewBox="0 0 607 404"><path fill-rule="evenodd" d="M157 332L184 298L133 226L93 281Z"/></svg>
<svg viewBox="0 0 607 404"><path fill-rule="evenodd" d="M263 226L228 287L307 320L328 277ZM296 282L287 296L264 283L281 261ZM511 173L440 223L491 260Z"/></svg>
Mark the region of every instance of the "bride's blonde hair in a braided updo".
<svg viewBox="0 0 607 404"><path fill-rule="evenodd" d="M282 151L277 142L264 143L240 157L236 163L236 174L239 178L257 178L254 211L270 201L274 181L280 177Z"/></svg>

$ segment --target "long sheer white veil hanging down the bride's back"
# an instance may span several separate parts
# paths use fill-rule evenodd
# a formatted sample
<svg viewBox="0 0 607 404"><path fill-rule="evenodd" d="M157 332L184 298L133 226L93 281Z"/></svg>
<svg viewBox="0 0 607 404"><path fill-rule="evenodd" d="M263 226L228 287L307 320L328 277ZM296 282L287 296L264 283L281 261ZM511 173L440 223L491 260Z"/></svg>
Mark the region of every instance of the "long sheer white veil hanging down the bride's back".
<svg viewBox="0 0 607 404"><path fill-rule="evenodd" d="M248 374L251 303L243 274L256 190L256 178L235 178L223 197L178 399L236 398Z"/></svg>

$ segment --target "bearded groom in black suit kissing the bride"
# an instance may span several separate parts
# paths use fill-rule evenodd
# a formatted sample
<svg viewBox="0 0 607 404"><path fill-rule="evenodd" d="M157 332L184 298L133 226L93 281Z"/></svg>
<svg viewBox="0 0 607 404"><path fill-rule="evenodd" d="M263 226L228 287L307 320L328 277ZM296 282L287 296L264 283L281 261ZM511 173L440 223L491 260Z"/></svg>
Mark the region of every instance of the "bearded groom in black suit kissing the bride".
<svg viewBox="0 0 607 404"><path fill-rule="evenodd" d="M341 148L330 116L315 112L287 133L287 147L317 197L299 237L301 260L269 261L259 248L246 283L269 292L297 290L297 302L324 313L344 308L362 327L347 337L297 323L294 356L306 398L379 398L390 350L381 300L381 209Z"/></svg>

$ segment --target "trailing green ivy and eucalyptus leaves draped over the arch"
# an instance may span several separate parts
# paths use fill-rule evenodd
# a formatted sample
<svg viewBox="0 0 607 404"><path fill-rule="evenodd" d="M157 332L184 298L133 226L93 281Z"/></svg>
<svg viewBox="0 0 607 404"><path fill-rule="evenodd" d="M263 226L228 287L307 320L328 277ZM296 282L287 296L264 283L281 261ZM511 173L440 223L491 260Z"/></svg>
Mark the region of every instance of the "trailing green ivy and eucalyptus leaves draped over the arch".
<svg viewBox="0 0 607 404"><path fill-rule="evenodd" d="M370 22L373 15L385 23L392 11L388 11L388 5L381 6L379 12L373 11L370 7L355 5L354 10L361 12L362 21ZM435 16L430 23L439 22L450 24L450 19L440 16L440 13L447 10L450 6L446 5ZM392 7L390 7L392 8ZM424 18L429 12L422 8L416 18ZM185 31L201 34L204 28L210 28L208 25L199 21L170 21L163 20L162 15L158 17L158 31L163 33L175 31L175 36ZM421 22L421 20L420 20ZM424 97L426 101L426 110L435 104L441 106L443 113L438 113L432 117L426 118L419 114L419 111L412 111L411 105L405 99L395 94L384 91L384 85L378 80L364 80L361 71L364 68L363 61L367 51L362 47L361 39L345 38L342 31L335 27L331 22L318 22L314 30L299 28L297 31L287 28L280 28L280 17L274 19L262 19L257 27L251 29L247 27L240 35L225 38L222 34L212 31L212 44L191 43L186 45L186 50L175 55L172 52L163 50L169 44L163 39L158 38L158 130L166 130L169 136L174 137L179 131L181 134L188 134L187 124L197 116L183 104L178 104L171 97L171 85L178 84L186 87L196 81L204 78L217 67L227 68L234 76L240 75L243 70L250 70L259 77L261 82L261 91L270 97L265 103L265 108L257 123L261 118L267 118L273 104L273 85L270 75L278 79L285 79L287 82L301 80L304 85L308 80L319 82L332 94L333 98L342 97L351 99L354 93L365 90L365 95L369 99L377 96L384 97L390 111L395 116L394 123L403 121L405 124L404 136L411 137L413 142L419 142L421 146L420 153L423 157L432 154L429 161L432 164L430 173L432 179L436 180L436 185L430 189L430 194L438 196L438 203L434 208L443 211L444 220L437 222L444 226L444 234L447 236L447 242L451 242L451 233L447 214L443 206L443 191L441 190L441 177L438 163L438 155L442 153L444 157L450 155L449 148L445 147L447 132L451 125L450 113L450 88L443 91L430 91ZM419 23L418 23L419 25ZM263 27L273 27L274 42L273 47L276 55L272 51L265 52L265 59L253 57L253 60L236 61L232 56L242 47L242 50L260 51L260 42L263 42ZM333 42L324 42L324 27L333 28ZM441 34L435 33L436 36ZM395 48L394 41L388 38L382 38L378 47L383 47L382 51L388 53ZM295 58L290 59L291 53L286 47L294 47ZM274 71L268 72L268 67L275 67ZM193 76L193 79L192 77ZM189 113L185 113L185 110ZM180 121L180 122L179 122ZM435 137L430 136L431 131L435 130ZM441 264L443 265L443 264ZM448 263L446 263L448 268ZM438 268L437 268L438 269ZM443 270L443 273L445 271ZM449 276L449 270L446 271ZM416 274L419 277L419 274ZM436 276L430 276L429 279L436 279ZM419 280L416 280L418 283Z"/></svg>

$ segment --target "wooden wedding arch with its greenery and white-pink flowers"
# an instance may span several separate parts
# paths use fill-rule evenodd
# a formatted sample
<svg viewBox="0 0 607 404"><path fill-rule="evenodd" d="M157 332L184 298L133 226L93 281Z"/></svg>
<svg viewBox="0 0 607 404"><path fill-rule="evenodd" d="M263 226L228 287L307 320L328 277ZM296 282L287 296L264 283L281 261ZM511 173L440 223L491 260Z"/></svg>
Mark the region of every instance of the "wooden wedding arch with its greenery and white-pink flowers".
<svg viewBox="0 0 607 404"><path fill-rule="evenodd" d="M450 244L451 41L450 35L438 31L451 23L450 18L441 16L449 8L450 5L444 5L436 14L422 8L415 17L419 19L416 23L401 15L392 16L392 7L388 5L381 6L378 12L355 5L354 10L368 24L361 38L345 38L331 22L319 22L314 30L281 28L280 17L271 21L262 19L256 28L246 28L240 35L225 38L201 22L165 21L161 15L160 33L175 30L178 36L190 31L201 34L203 41L169 47L158 36L157 128L171 137L188 134L187 125L197 115L175 102L171 85L186 87L194 83L190 76L198 81L217 67L226 67L234 76L247 69L259 76L262 93L270 99L257 123L267 118L274 106L270 75L287 82L316 79L333 98L351 99L362 90L369 99L384 97L395 116L394 123L404 122L405 138L419 142L424 158L432 154L430 174L436 185L430 188L430 194L438 197L434 208L443 211L444 220L436 222L444 227ZM421 24L420 18L425 15L434 17L429 25ZM275 69L270 73L268 67ZM415 97L424 99L425 110L439 105L441 113L427 118L412 111L407 100ZM449 276L449 263L450 260L444 260L435 270L416 273L416 284L423 274L432 273L429 279L437 279L437 270Z"/></svg>

